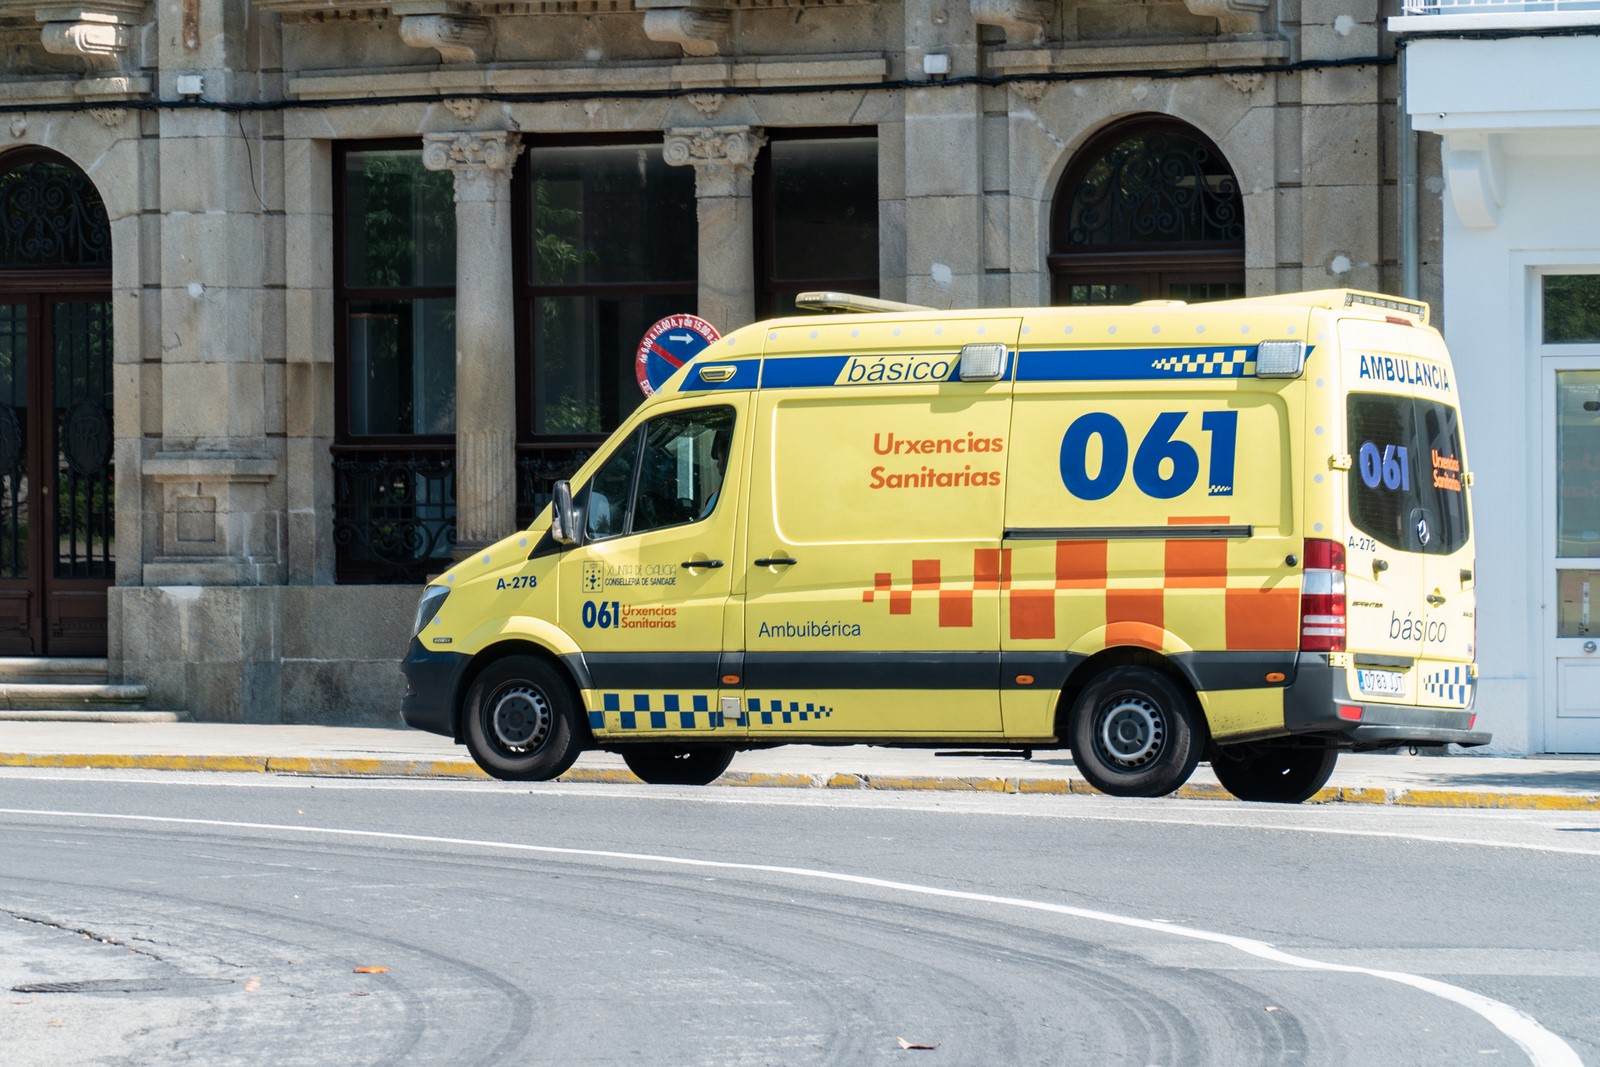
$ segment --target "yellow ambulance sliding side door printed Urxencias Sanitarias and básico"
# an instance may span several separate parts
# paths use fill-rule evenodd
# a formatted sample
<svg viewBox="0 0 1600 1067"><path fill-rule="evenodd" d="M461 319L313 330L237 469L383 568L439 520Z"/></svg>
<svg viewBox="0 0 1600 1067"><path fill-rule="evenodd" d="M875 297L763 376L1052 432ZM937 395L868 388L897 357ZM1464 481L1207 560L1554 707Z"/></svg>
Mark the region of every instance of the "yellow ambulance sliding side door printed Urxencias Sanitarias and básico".
<svg viewBox="0 0 1600 1067"><path fill-rule="evenodd" d="M766 338L750 469L750 737L1000 733L1000 522L1019 320ZM1005 347L960 381L965 344Z"/></svg>

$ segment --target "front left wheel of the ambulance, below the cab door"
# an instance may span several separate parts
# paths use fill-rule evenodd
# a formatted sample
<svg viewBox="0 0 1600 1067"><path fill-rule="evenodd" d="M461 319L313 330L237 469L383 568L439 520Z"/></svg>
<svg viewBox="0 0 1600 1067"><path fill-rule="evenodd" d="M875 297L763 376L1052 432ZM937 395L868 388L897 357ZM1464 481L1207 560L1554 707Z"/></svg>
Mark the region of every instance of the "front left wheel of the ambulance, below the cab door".
<svg viewBox="0 0 1600 1067"><path fill-rule="evenodd" d="M490 664L467 689L467 752L507 782L547 782L573 765L587 733L571 681L533 656Z"/></svg>

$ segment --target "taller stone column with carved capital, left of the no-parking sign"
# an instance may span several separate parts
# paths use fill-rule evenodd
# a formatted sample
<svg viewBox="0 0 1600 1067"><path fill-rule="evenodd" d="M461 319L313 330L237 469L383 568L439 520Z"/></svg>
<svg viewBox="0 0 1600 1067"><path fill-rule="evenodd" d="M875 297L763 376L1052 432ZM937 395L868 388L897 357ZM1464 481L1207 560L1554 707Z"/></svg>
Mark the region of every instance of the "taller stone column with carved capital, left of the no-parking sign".
<svg viewBox="0 0 1600 1067"><path fill-rule="evenodd" d="M522 134L430 133L422 165L456 176L456 552L517 528L510 168Z"/></svg>

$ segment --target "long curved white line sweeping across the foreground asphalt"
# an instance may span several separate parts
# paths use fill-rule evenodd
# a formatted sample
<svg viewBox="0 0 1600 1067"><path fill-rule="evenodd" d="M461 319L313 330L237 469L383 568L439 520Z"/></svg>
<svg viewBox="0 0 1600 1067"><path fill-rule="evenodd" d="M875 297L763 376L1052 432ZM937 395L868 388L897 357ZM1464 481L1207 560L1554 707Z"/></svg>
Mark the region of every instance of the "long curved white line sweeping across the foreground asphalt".
<svg viewBox="0 0 1600 1067"><path fill-rule="evenodd" d="M102 819L102 821L118 821L118 822L155 822L165 825L202 825L202 827L224 827L237 830L306 833L306 835L322 835L322 837L358 837L358 838L376 838L387 841L413 841L421 845L454 845L466 848L488 848L488 849L514 851L514 853L536 853L544 856L581 856L586 859L618 859L627 862L661 864L672 867L741 870L750 873L789 875L792 878L813 878L819 881L842 881L848 885L870 886L874 889L890 889L902 894L933 896L954 901L968 901L974 904L994 904L998 907L1050 912L1054 915L1067 915L1072 918L1088 920L1094 923L1107 923L1112 926L1142 929L1149 933L1166 934L1171 937L1186 937L1189 941L1203 941L1210 944L1218 944L1234 949L1237 952L1243 952L1246 955L1253 955L1261 960L1282 963L1285 966L1306 968L1312 971L1331 971L1336 974L1365 974L1368 977L1378 977L1389 982L1398 982L1400 985L1410 985L1411 989L1421 990L1424 993L1432 993L1434 997L1440 997L1442 1000L1461 1005L1462 1008L1482 1016L1490 1025L1493 1025L1496 1030L1499 1030L1512 1041L1515 1041L1517 1046L1528 1054L1530 1062L1533 1062L1536 1067L1582 1067L1582 1061L1578 1057L1578 1053L1573 1051L1573 1048L1560 1037L1539 1025L1539 1021L1534 1019L1533 1016L1517 1008L1512 1008L1510 1005L1493 1000L1490 997L1483 997L1480 993L1474 993L1472 990L1461 989L1459 985L1451 985L1448 982L1440 982L1437 979L1422 977L1421 974L1406 974L1403 971L1379 971L1376 968L1354 966L1346 963L1326 963L1323 960L1312 960L1309 957L1298 957L1288 952L1282 952L1267 944L1266 941L1254 941L1253 937L1237 937L1234 934L1221 934L1210 929L1200 929L1197 926L1182 926L1178 923L1136 918L1131 915L1115 915L1112 912L1096 912L1091 909L1072 907L1069 904L1051 904L1048 901L1027 901L1022 897L995 896L990 893L968 893L965 889L944 889L939 886L925 886L912 881L891 881L886 878L870 878L866 875L850 875L834 870L816 870L811 867L782 867L776 864L738 864L722 859L656 856L650 853L616 853L610 849L595 849L595 848L560 848L555 845L522 845L517 841L486 841L478 838L435 837L429 833L395 833L390 830L350 830L339 827L283 825L275 822L234 822L226 819L182 819L176 816L136 816L136 814L101 813L101 811L46 811L46 809L27 809L27 808L0 808L0 814L46 817L46 819Z"/></svg>

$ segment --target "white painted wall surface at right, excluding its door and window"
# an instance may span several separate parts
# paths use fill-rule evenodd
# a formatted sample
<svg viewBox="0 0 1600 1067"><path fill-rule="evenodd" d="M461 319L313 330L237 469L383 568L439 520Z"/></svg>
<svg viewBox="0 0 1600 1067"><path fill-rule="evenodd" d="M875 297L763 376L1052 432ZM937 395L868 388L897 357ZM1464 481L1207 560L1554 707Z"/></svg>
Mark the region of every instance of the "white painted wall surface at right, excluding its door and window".
<svg viewBox="0 0 1600 1067"><path fill-rule="evenodd" d="M1600 264L1600 38L1413 40L1406 64L1413 125L1445 138L1445 339L1477 477L1478 728L1496 752L1541 752L1554 605L1533 315L1539 269Z"/></svg>

